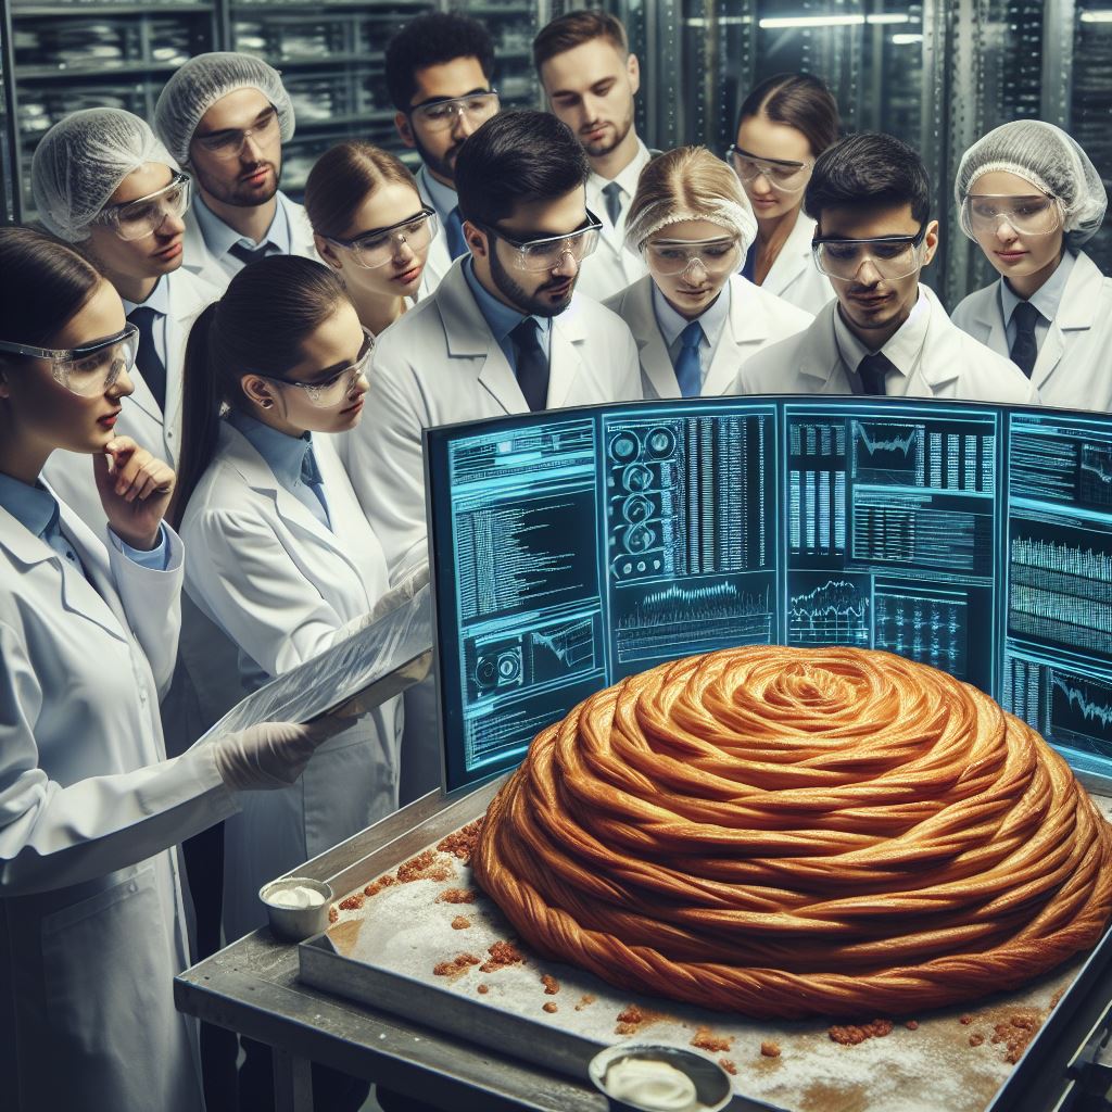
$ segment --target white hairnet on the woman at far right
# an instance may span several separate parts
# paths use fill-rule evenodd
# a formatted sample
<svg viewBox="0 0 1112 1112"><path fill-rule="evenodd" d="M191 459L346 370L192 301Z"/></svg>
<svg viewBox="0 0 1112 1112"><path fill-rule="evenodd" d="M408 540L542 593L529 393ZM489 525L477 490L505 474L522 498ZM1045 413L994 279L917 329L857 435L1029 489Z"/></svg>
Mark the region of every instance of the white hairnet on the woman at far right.
<svg viewBox="0 0 1112 1112"><path fill-rule="evenodd" d="M1015 173L1059 199L1071 247L1088 242L1100 228L1108 208L1100 175L1076 140L1053 123L1013 120L973 143L957 167L957 203L977 178L1000 171Z"/></svg>

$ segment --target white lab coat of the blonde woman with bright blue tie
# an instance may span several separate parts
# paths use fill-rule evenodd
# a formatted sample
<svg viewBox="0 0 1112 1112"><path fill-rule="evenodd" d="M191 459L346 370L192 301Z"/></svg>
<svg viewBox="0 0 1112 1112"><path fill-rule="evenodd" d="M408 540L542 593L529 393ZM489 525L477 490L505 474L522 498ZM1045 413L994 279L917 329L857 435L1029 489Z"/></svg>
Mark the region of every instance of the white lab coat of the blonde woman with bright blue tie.
<svg viewBox="0 0 1112 1112"><path fill-rule="evenodd" d="M727 291L729 314L703 379L704 397L737 393L737 373L748 359L770 344L802 331L812 320L810 312L782 301L741 275L731 276L723 294ZM656 322L652 277L642 278L604 304L629 326L637 341L645 397L682 397L667 344Z"/></svg>

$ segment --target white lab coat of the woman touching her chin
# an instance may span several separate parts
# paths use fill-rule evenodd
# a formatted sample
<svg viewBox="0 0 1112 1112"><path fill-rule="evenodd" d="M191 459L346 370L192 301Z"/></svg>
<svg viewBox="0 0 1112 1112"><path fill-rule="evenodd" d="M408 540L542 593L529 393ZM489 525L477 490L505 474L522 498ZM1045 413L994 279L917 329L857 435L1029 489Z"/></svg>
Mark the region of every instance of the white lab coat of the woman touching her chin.
<svg viewBox="0 0 1112 1112"><path fill-rule="evenodd" d="M151 570L61 523L91 582L0 508L0 1103L199 1112L169 847L236 802L210 747L163 759L182 546Z"/></svg>

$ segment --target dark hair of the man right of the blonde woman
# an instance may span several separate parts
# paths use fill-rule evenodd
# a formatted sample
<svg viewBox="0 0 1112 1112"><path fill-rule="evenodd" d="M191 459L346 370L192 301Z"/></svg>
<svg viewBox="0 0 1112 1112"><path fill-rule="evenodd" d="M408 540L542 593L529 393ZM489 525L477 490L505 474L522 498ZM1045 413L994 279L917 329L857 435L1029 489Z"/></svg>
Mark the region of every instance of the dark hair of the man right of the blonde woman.
<svg viewBox="0 0 1112 1112"><path fill-rule="evenodd" d="M818 220L826 208L910 205L921 225L931 215L931 179L919 152L894 136L862 131L815 159L803 209Z"/></svg>

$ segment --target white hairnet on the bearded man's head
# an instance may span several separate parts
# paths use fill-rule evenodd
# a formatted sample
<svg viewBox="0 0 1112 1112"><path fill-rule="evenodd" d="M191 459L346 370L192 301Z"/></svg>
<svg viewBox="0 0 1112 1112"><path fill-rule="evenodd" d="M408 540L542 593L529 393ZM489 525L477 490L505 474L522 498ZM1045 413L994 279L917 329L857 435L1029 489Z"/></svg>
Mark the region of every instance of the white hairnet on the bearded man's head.
<svg viewBox="0 0 1112 1112"><path fill-rule="evenodd" d="M155 106L155 130L182 166L189 161L189 143L201 117L237 89L261 92L278 110L281 141L292 138L294 106L278 70L251 54L197 54L166 82Z"/></svg>

